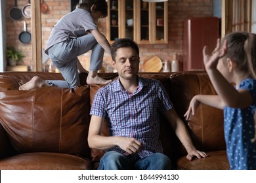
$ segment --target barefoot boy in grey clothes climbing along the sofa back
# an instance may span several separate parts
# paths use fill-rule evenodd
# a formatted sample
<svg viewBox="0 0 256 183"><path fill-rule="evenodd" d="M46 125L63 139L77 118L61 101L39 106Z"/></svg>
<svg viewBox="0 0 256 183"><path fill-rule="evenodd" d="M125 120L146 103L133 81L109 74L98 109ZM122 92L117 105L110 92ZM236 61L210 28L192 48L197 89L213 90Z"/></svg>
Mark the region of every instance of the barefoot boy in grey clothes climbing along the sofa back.
<svg viewBox="0 0 256 183"><path fill-rule="evenodd" d="M65 81L42 80L35 76L20 86L20 90L32 90L41 86L76 88L80 85L79 72L88 73L77 57L89 50L91 50L91 60L87 84L111 82L100 78L97 74L102 67L104 51L111 55L110 44L98 31L96 25L100 18L106 16L108 16L108 2L105 0L80 0L74 11L60 18L54 25L45 48L45 53L49 55Z"/></svg>

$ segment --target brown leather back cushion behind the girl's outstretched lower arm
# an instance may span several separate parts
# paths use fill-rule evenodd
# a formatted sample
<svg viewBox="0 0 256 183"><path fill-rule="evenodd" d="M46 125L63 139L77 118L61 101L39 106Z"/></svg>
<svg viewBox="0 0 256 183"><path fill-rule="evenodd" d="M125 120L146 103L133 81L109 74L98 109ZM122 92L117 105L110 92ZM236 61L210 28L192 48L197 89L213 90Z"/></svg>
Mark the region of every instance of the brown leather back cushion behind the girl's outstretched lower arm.
<svg viewBox="0 0 256 183"><path fill-rule="evenodd" d="M226 150L223 129L223 110L201 104L188 121L184 114L194 95L216 95L206 73L175 73L170 76L170 97L177 113L188 126L192 141L198 150Z"/></svg>

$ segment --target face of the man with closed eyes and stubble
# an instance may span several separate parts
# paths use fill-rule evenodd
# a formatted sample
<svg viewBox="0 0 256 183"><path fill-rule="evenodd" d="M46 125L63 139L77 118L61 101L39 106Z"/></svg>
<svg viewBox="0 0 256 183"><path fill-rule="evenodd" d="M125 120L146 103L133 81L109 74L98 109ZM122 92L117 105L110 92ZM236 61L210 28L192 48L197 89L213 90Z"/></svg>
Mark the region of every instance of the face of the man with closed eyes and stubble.
<svg viewBox="0 0 256 183"><path fill-rule="evenodd" d="M112 61L121 78L130 80L137 78L140 58L133 48L119 48L116 52L116 63Z"/></svg>

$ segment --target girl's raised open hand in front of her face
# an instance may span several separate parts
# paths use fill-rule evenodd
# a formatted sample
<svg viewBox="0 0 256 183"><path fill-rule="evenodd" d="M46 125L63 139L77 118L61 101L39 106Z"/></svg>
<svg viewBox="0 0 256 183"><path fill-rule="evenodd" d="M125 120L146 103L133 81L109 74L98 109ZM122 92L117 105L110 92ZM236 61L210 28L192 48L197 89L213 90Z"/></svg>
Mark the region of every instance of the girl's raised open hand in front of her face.
<svg viewBox="0 0 256 183"><path fill-rule="evenodd" d="M207 46L203 47L203 63L205 69L216 69L220 58L222 58L227 51L227 42L224 41L223 47L221 48L221 39L217 39L217 46L213 50L211 55L208 54Z"/></svg>

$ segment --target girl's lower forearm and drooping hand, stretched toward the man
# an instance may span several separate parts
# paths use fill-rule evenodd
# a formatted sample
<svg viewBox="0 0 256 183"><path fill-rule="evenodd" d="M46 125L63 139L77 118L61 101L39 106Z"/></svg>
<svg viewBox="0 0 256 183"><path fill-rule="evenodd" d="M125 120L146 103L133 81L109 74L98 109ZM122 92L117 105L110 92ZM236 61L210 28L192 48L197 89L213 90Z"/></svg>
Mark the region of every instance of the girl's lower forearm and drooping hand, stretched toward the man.
<svg viewBox="0 0 256 183"><path fill-rule="evenodd" d="M190 118L191 114L195 114L196 109L199 107L200 103L219 109L224 108L224 103L218 95L196 95L190 101L188 110L184 114L186 120Z"/></svg>

